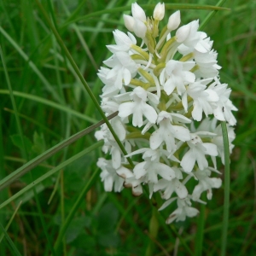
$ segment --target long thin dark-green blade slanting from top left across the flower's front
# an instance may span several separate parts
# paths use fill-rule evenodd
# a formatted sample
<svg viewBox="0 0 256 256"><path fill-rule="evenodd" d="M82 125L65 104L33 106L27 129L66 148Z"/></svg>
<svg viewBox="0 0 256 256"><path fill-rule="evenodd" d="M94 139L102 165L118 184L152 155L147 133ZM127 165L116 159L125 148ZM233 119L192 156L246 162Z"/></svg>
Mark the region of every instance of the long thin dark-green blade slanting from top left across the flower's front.
<svg viewBox="0 0 256 256"><path fill-rule="evenodd" d="M38 0L36 0L36 2L38 3L38 7L39 7L39 9L41 10L42 14L44 15L45 20L47 20L47 23L48 23L48 25L50 26L52 32L55 34L55 38L57 39L58 43L60 44L61 49L64 51L65 55L67 56L67 59L70 61L71 65L73 66L73 68L74 68L74 70L75 70L75 72L78 74L79 79L81 80L82 84L84 85L85 90L87 90L87 92L88 92L88 94L89 94L91 100L94 102L94 104L95 104L97 110L98 110L99 113L101 114L102 119L104 119L106 125L108 125L108 129L109 129L109 131L112 133L112 135L113 135L113 137L114 137L116 143L118 143L119 148L121 149L121 151L123 152L123 154L126 155L127 152L126 152L126 150L125 150L125 147L124 147L123 144L120 142L119 137L118 137L118 136L116 135L116 133L113 131L113 127L112 127L112 125L109 123L108 118L105 116L104 112L102 111L102 108L101 108L100 104L97 102L96 96L95 96L95 95L93 94L93 92L90 90L90 87L89 87L89 85L87 84L87 82L85 81L83 74L80 73L79 67L77 66L77 64L76 64L75 61L73 60L73 57L72 57L72 55L70 54L70 52L68 51L66 45L63 43L63 41L62 41L62 39L61 39L59 33L58 33L57 30L55 29L55 26L53 26L53 24L52 24L51 20L49 19L49 16L47 15L47 13L46 13L46 11L45 11L43 5L42 5L41 3L39 3ZM127 160L129 161L129 163L130 163L131 166L134 166L134 164L133 164L131 158L128 158L128 157L127 157Z"/></svg>

